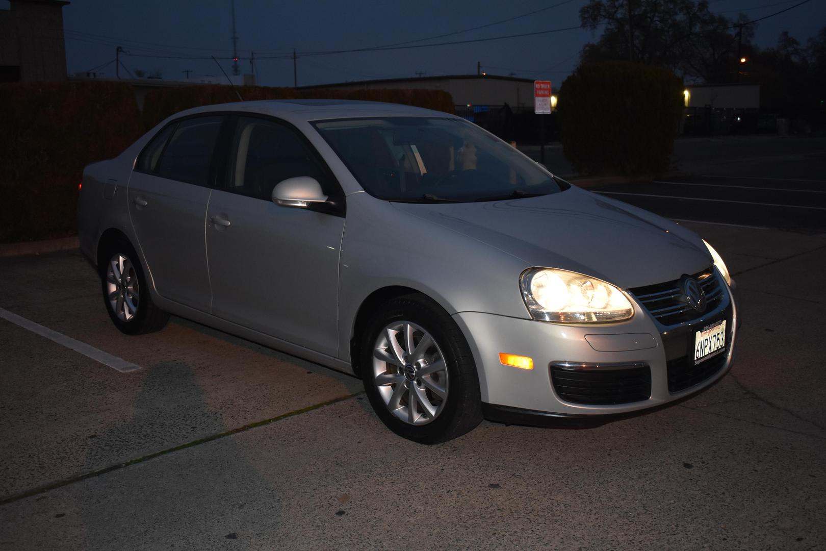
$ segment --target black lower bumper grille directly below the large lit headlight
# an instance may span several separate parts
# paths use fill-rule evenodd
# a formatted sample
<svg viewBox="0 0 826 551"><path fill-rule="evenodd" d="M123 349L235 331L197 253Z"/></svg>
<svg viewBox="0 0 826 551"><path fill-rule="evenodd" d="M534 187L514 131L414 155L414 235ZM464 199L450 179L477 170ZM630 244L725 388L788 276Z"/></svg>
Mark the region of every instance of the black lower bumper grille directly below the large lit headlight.
<svg viewBox="0 0 826 551"><path fill-rule="evenodd" d="M565 401L609 405L648 400L651 397L651 368L577 368L551 365L553 389Z"/></svg>

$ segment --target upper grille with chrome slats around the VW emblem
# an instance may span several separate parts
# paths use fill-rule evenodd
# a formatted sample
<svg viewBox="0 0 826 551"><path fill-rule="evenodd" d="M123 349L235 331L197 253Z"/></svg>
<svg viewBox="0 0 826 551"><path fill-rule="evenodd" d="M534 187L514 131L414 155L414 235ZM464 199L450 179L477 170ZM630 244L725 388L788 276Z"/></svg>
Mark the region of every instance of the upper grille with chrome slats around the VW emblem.
<svg viewBox="0 0 826 551"><path fill-rule="evenodd" d="M695 320L713 310L723 300L723 287L714 268L705 269L691 277L700 283L705 293L705 311L696 311L684 301L680 280L636 287L629 291L662 325L676 325Z"/></svg>

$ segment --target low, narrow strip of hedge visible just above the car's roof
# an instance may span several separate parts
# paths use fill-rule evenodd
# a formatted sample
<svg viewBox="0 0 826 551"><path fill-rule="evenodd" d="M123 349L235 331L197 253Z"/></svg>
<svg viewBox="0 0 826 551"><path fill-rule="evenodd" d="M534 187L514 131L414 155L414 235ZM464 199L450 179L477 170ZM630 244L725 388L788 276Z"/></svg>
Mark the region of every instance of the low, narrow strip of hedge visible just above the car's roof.
<svg viewBox="0 0 826 551"><path fill-rule="evenodd" d="M356 99L369 102L403 103L453 113L453 97L443 90L339 90L334 88L297 90L263 86L242 86L237 89L246 102L262 99ZM167 116L184 109L237 101L238 96L229 86L182 86L152 90L146 94L144 102L144 123L149 129Z"/></svg>

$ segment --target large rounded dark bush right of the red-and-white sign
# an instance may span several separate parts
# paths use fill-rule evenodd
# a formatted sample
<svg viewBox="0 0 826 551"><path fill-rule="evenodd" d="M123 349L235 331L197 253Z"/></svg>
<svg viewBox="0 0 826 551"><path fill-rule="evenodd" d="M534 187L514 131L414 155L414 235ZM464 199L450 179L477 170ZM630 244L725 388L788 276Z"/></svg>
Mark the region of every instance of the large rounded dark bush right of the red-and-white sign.
<svg viewBox="0 0 826 551"><path fill-rule="evenodd" d="M683 108L668 69L580 65L559 90L563 152L579 173L657 174L668 167Z"/></svg>

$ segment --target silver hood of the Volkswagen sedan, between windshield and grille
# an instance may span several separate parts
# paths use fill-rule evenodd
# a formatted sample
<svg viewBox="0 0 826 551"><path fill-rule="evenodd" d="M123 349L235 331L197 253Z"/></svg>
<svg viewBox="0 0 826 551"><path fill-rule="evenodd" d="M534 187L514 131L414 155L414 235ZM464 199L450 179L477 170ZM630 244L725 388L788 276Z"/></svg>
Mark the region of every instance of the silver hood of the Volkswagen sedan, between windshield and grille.
<svg viewBox="0 0 826 551"><path fill-rule="evenodd" d="M576 187L496 202L392 205L511 254L525 268L567 269L626 289L672 281L713 263L691 230Z"/></svg>

